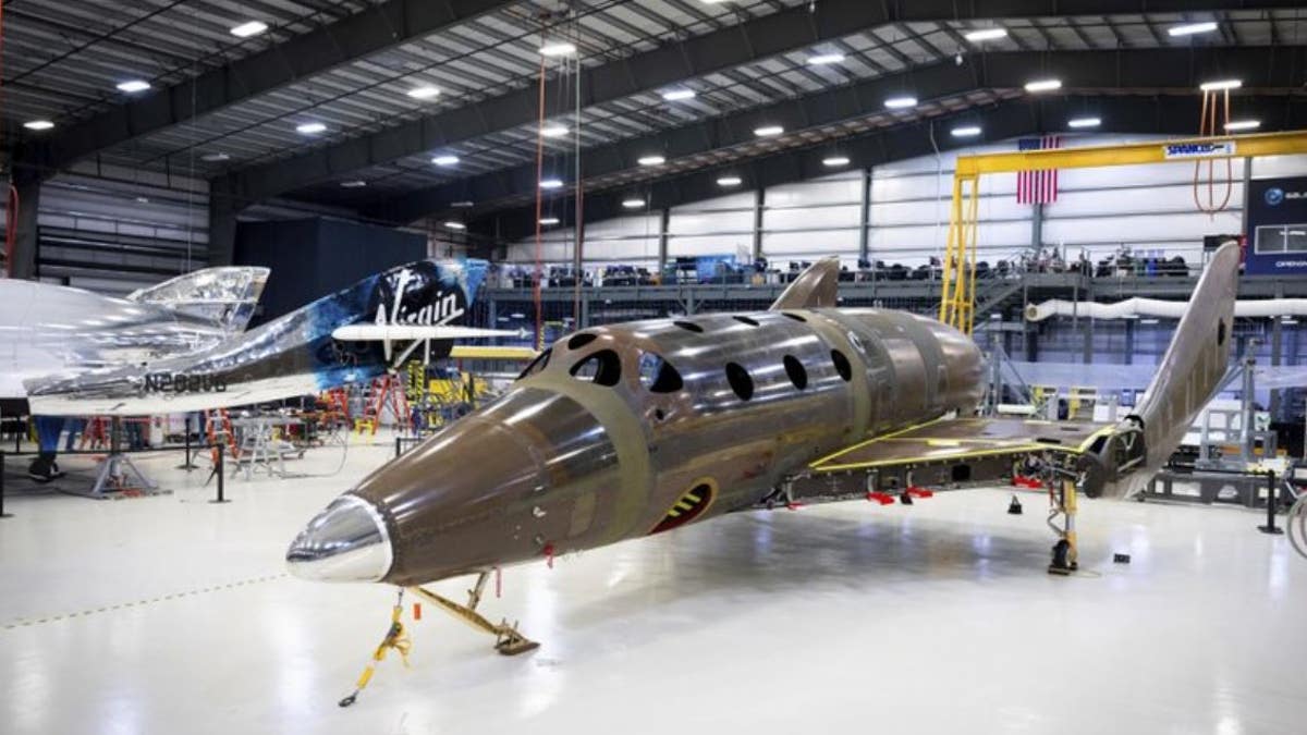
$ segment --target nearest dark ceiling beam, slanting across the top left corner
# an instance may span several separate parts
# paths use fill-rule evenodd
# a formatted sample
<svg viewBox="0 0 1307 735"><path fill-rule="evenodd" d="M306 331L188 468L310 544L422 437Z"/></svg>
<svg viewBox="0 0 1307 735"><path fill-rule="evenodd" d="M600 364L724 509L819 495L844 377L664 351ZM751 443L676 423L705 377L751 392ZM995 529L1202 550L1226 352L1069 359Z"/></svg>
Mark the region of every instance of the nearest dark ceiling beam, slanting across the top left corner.
<svg viewBox="0 0 1307 735"><path fill-rule="evenodd" d="M98 150L516 4L516 0L389 0L374 5L69 127L48 143L52 166L48 173Z"/></svg>

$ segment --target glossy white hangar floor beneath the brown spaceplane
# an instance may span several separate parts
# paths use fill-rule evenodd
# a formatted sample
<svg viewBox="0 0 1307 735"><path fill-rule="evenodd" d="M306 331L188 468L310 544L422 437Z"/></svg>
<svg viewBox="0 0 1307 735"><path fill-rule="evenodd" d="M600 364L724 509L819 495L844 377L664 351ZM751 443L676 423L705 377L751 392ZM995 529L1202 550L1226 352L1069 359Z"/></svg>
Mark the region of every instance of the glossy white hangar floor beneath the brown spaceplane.
<svg viewBox="0 0 1307 735"><path fill-rule="evenodd" d="M510 569L482 611L544 647L498 657L426 606L412 668L388 658L340 709L393 591L289 578L282 552L391 451L231 481L221 506L176 455L145 463L173 496L10 497L0 732L1307 732L1307 560L1259 515L1089 501L1085 572L1053 578L1042 498L1012 517L1001 490Z"/></svg>

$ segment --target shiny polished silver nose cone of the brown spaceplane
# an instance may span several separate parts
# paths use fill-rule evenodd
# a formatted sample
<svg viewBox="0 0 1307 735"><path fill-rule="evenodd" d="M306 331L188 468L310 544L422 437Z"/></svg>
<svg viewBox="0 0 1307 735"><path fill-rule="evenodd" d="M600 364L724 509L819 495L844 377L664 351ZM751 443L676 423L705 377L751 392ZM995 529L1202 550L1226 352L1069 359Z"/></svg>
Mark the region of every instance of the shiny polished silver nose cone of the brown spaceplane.
<svg viewBox="0 0 1307 735"><path fill-rule="evenodd" d="M286 549L286 566L314 582L378 582L391 570L391 538L367 501L341 496Z"/></svg>

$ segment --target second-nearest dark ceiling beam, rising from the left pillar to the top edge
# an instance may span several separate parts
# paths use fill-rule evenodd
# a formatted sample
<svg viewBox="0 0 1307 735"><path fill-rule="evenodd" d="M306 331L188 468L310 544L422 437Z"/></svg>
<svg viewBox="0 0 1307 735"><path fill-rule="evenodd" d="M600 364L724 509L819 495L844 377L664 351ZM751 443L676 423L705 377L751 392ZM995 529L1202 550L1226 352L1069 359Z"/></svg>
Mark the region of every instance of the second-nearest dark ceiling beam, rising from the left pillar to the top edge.
<svg viewBox="0 0 1307 735"><path fill-rule="evenodd" d="M584 69L579 80L580 105L591 107L657 90L891 22L1291 7L1295 7L1294 0L1005 0L965 3L961 7L954 0L822 0ZM562 109L559 95L565 90L550 85L546 93L546 109ZM254 204L332 177L525 126L537 116L537 89L527 86L227 175L233 191L243 201Z"/></svg>

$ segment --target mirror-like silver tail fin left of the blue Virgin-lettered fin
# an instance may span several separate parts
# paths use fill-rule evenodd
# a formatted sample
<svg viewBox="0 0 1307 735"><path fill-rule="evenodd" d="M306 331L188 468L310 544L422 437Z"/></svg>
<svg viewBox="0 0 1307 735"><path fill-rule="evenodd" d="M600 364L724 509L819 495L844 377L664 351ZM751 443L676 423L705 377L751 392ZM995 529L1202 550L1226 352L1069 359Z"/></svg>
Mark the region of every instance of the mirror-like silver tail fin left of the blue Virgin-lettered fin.
<svg viewBox="0 0 1307 735"><path fill-rule="evenodd" d="M226 332L239 332L254 316L267 282L267 268L204 268L132 292L127 299L165 306L212 322Z"/></svg>

